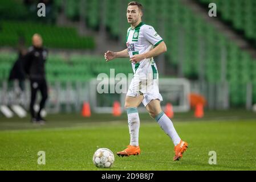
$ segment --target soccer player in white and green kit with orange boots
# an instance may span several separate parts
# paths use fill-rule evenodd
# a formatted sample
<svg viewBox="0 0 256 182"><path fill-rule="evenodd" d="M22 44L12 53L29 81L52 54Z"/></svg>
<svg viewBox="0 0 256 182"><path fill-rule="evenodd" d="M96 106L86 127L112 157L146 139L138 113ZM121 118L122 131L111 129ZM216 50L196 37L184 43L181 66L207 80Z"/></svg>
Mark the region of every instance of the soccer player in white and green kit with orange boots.
<svg viewBox="0 0 256 182"><path fill-rule="evenodd" d="M162 130L172 139L175 151L173 160L179 160L188 148L188 143L180 139L172 121L161 110L162 96L159 93L157 67L153 60L153 57L166 52L166 45L152 26L141 22L141 16L143 16L143 6L139 2L129 2L127 20L131 27L127 31L127 49L120 52L107 51L104 55L107 61L117 57L130 57L134 73L125 98L131 140L129 146L117 152L117 155L140 154L140 118L137 107L142 102L151 117L156 119Z"/></svg>

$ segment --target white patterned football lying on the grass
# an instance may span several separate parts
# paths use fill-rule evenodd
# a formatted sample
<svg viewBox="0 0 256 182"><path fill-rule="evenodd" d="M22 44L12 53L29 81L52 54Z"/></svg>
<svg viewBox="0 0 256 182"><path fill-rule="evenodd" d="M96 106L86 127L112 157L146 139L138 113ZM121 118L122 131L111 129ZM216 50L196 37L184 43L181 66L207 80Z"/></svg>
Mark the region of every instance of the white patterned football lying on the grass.
<svg viewBox="0 0 256 182"><path fill-rule="evenodd" d="M115 156L108 148L99 148L95 151L92 162L96 167L109 168L113 165Z"/></svg>

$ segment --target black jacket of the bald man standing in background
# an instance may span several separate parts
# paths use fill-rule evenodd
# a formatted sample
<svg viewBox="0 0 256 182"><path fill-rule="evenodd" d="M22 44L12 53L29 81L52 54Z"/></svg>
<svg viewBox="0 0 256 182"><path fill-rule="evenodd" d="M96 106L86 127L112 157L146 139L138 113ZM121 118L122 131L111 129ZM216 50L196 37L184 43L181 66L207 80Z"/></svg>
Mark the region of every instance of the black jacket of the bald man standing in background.
<svg viewBox="0 0 256 182"><path fill-rule="evenodd" d="M47 59L47 49L29 48L29 52L24 57L24 69L30 79L44 79L46 77L45 63Z"/></svg>

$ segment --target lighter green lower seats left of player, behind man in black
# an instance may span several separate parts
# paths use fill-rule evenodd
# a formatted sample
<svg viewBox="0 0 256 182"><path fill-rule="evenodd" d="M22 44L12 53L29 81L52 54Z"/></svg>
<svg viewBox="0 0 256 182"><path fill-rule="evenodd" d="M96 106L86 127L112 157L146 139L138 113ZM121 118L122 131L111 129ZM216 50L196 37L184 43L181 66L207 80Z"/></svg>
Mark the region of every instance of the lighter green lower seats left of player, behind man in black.
<svg viewBox="0 0 256 182"><path fill-rule="evenodd" d="M17 55L0 53L0 80L9 77L10 69L17 59ZM115 68L115 74L132 73L129 60L117 59L105 62L101 56L49 55L46 64L47 78L50 81L87 81L97 77L99 73L110 75L109 69Z"/></svg>

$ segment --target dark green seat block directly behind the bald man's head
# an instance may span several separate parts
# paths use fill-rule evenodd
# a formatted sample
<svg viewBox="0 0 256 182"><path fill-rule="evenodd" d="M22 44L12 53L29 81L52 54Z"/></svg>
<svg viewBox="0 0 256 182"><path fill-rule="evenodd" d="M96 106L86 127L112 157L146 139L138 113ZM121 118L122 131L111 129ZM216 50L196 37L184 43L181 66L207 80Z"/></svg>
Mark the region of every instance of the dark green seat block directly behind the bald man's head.
<svg viewBox="0 0 256 182"><path fill-rule="evenodd" d="M0 26L0 46L17 46L19 38L25 38L26 45L29 46L32 35L38 32L43 36L44 45L48 48L93 49L95 47L94 38L79 36L75 28L15 21L2 21Z"/></svg>

